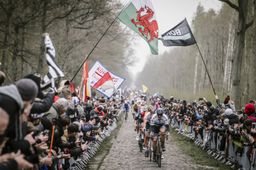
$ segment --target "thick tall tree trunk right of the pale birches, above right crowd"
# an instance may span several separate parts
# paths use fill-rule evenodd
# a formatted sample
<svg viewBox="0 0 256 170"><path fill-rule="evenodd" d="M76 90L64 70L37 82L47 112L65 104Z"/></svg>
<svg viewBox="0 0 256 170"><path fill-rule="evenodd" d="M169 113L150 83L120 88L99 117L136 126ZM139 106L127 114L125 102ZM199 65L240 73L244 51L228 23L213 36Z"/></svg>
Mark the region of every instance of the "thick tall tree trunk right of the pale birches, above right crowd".
<svg viewBox="0 0 256 170"><path fill-rule="evenodd" d="M238 0L239 4L239 17L238 17L238 32L236 39L236 49L234 51L233 63L232 63L232 96L234 105L237 108L241 108L241 92L240 92L240 77L241 77L241 65L245 44L245 32L246 32L246 18L248 11L248 0Z"/></svg>

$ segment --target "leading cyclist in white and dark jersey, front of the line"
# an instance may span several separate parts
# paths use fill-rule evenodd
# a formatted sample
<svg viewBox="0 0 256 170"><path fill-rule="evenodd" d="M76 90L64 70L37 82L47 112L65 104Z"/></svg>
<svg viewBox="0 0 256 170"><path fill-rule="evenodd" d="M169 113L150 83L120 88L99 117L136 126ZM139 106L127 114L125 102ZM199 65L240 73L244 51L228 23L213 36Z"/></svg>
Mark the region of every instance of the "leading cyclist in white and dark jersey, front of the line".
<svg viewBox="0 0 256 170"><path fill-rule="evenodd" d="M158 108L156 110L157 114L154 114L151 118L151 126L150 126L150 136L153 135L153 162L156 162L156 147L157 147L157 139L158 139L158 133L161 132L161 134L165 133L165 130L167 132L167 135L169 136L169 122L168 117L163 114L164 110L162 108ZM154 135L155 134L155 135ZM164 146L165 136L161 135L161 142L162 142L162 151L166 151ZM161 157L163 159L163 155Z"/></svg>

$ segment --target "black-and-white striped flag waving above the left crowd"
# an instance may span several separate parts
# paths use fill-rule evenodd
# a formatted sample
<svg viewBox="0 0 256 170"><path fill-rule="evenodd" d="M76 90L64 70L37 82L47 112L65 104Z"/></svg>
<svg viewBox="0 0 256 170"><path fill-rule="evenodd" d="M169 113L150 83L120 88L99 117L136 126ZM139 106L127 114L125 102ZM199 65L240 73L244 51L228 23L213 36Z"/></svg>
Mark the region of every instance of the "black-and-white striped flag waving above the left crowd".
<svg viewBox="0 0 256 170"><path fill-rule="evenodd" d="M59 68L57 62L55 61L55 48L52 44L52 41L49 37L49 35L46 34L46 39L45 39L45 44L46 44L46 60L47 60L47 65L49 68L48 74L44 77L41 83L41 89L44 90L47 88L46 86L52 83L52 88L54 88L54 78L57 77L65 77L62 70Z"/></svg>

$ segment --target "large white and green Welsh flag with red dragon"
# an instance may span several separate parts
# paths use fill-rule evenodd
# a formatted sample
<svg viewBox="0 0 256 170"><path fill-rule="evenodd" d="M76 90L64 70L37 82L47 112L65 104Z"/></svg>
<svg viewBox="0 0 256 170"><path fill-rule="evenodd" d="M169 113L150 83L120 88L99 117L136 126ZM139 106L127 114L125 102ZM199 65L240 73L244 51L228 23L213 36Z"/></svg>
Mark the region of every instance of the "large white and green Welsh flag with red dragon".
<svg viewBox="0 0 256 170"><path fill-rule="evenodd" d="M144 38L152 54L158 54L158 38L161 38L161 34L151 0L131 0L117 17Z"/></svg>

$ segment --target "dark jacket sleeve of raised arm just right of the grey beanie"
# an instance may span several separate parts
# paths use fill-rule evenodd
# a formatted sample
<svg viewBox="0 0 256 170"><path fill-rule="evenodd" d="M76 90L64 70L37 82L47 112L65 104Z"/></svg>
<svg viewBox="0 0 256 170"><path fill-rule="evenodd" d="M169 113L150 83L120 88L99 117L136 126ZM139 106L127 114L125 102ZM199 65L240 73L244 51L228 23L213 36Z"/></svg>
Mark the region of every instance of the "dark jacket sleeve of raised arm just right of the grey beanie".
<svg viewBox="0 0 256 170"><path fill-rule="evenodd" d="M44 113L50 110L54 100L54 94L47 93L44 102L35 102L30 113Z"/></svg>

